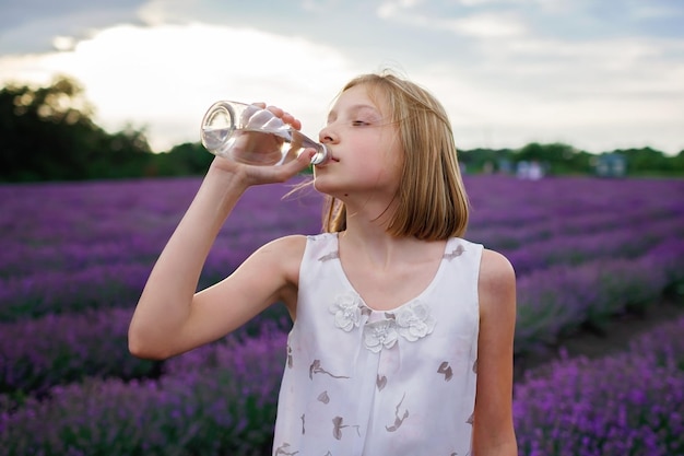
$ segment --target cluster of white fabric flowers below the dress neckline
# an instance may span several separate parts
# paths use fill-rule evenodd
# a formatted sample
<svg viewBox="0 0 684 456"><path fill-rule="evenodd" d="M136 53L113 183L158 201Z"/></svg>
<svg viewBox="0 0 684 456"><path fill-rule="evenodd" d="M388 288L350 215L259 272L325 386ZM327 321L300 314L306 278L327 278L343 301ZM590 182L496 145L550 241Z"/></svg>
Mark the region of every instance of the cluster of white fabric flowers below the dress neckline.
<svg viewBox="0 0 684 456"><path fill-rule="evenodd" d="M334 325L346 332L361 327L363 317L373 314L356 293L338 295L329 309L334 314ZM382 314L380 319L363 323L364 346L374 353L391 349L400 337L415 342L432 334L437 324L429 306L418 300Z"/></svg>

